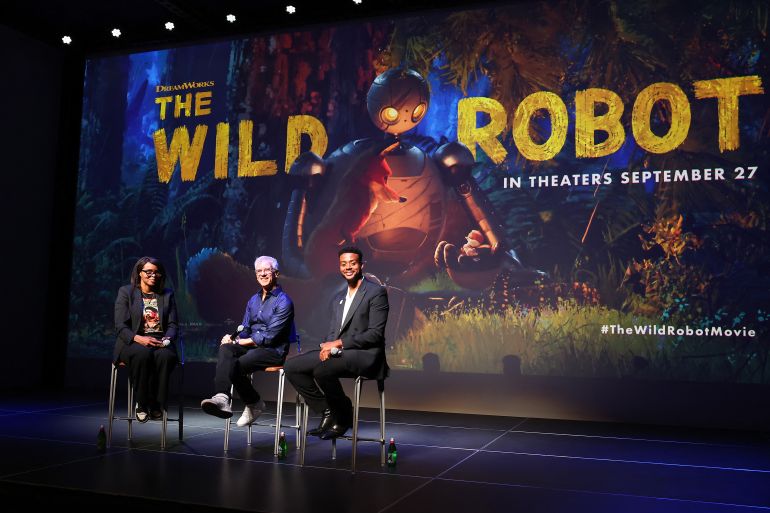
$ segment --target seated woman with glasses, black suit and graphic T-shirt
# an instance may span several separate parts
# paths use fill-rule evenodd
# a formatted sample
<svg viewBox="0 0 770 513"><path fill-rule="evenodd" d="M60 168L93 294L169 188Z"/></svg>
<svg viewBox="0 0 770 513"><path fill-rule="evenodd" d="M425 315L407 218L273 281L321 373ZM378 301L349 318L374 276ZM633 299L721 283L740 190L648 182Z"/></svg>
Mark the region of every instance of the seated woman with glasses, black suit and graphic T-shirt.
<svg viewBox="0 0 770 513"><path fill-rule="evenodd" d="M131 284L121 287L115 300L113 361L128 367L139 422L163 418L169 376L178 361L176 301L165 283L160 260L142 257L131 272Z"/></svg>

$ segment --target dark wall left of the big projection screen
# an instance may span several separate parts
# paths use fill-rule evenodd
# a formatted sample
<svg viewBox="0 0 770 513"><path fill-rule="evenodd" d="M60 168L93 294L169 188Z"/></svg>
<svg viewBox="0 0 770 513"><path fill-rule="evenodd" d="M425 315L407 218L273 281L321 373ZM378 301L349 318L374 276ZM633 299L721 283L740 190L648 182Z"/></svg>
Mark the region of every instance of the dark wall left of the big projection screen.
<svg viewBox="0 0 770 513"><path fill-rule="evenodd" d="M0 359L3 389L37 385L47 358L48 327L55 328L53 351L63 357L66 324L51 325L48 299L54 292L49 273L52 216L67 217L74 208L55 212L63 56L57 49L0 26L0 148L2 148L2 276L6 329ZM74 176L74 170L70 170ZM61 190L64 193L66 187ZM67 242L67 246L69 246ZM68 251L68 250L67 250ZM67 308L59 295L60 312ZM12 356L19 355L19 357ZM64 367L63 358L58 366Z"/></svg>

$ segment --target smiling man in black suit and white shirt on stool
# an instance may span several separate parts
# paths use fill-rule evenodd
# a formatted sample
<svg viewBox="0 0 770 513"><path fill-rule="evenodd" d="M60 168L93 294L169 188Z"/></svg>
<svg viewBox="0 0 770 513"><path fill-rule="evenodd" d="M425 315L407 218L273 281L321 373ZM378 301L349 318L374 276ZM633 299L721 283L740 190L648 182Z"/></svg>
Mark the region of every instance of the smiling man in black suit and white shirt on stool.
<svg viewBox="0 0 770 513"><path fill-rule="evenodd" d="M332 299L331 325L319 351L286 362L286 376L307 404L322 415L308 431L324 440L342 436L353 424L353 408L339 378L365 376L385 379L385 324L388 292L364 278L360 249L339 250L340 273L347 287Z"/></svg>

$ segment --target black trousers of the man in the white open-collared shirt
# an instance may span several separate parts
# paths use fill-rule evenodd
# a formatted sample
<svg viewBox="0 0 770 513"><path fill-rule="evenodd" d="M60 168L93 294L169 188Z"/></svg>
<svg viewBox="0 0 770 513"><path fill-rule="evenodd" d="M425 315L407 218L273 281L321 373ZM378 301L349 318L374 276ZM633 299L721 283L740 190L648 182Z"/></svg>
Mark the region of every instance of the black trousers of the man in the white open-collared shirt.
<svg viewBox="0 0 770 513"><path fill-rule="evenodd" d="M310 351L286 362L286 377L316 413L323 413L329 408L336 415L344 417L350 414L352 403L345 395L339 378L355 378L360 374L356 369L349 368L352 367L351 362L346 360L352 351L345 351L341 356L324 362L319 358L320 351Z"/></svg>

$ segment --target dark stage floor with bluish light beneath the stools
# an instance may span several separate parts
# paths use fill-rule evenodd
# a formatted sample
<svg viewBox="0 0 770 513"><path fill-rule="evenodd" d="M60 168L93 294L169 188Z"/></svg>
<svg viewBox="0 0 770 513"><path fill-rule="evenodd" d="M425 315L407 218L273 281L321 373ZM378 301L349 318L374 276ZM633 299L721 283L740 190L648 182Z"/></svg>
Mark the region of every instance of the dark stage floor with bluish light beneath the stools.
<svg viewBox="0 0 770 513"><path fill-rule="evenodd" d="M224 453L224 422L197 400L183 441L169 423L167 450L160 423L134 423L129 444L116 422L112 447L98 454L106 395L0 399L4 511L17 511L8 501L186 513L770 510L767 433L389 410L397 468L380 467L379 445L361 443L351 475L350 442L340 440L332 460L331 443L309 437L303 468L290 429L286 460L274 459L269 427L254 428L252 446L233 427ZM268 405L260 420L274 417ZM284 409L292 422L293 405ZM361 436L375 436L376 413L363 410Z"/></svg>

